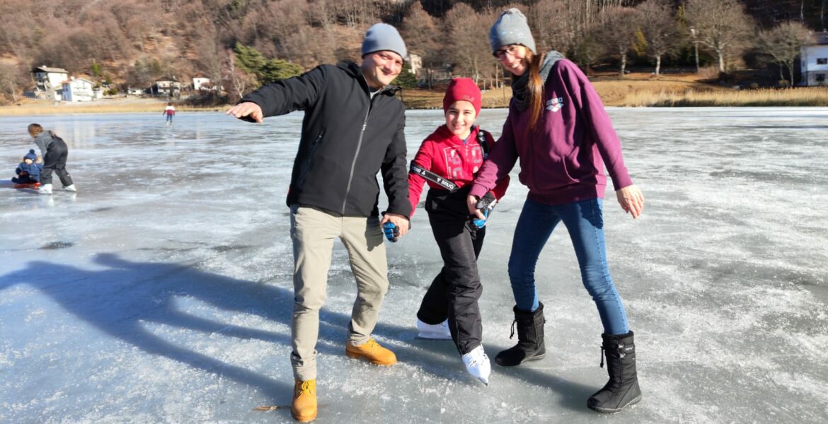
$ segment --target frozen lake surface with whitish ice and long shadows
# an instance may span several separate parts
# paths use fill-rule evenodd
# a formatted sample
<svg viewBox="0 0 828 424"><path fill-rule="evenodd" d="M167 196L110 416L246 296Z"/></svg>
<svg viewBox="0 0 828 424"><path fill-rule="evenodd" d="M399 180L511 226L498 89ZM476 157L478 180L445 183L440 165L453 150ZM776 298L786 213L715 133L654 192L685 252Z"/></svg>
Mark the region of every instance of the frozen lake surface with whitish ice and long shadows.
<svg viewBox="0 0 828 424"><path fill-rule="evenodd" d="M484 110L479 123L497 136L505 113ZM606 381L601 327L563 226L538 264L546 359L493 365L486 388L450 342L417 339L441 264L420 211L387 245L392 287L375 336L397 353L390 369L343 355L356 290L335 245L316 422L828 420L828 108L609 113L647 198L635 221L614 194L604 205L643 401L613 417L585 407ZM12 188L32 121L70 145L79 193ZM441 122L440 111L407 113L409 159ZM253 407L291 400L284 199L300 124L0 117L0 422L291 422ZM491 357L513 345L506 264L526 192L513 176L480 259Z"/></svg>

